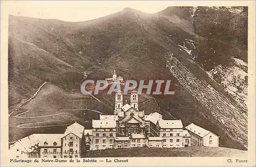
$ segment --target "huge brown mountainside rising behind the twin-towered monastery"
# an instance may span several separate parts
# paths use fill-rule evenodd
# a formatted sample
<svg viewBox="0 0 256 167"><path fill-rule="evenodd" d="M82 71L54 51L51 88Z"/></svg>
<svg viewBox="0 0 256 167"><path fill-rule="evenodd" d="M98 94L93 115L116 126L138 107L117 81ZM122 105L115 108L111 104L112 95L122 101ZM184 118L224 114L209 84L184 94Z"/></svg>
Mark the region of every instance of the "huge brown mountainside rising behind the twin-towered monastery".
<svg viewBox="0 0 256 167"><path fill-rule="evenodd" d="M85 78L110 77L116 69L125 79L172 80L174 96L140 96L140 109L145 113L157 111L165 119L181 119L184 126L193 122L219 135L220 146L246 149L247 108L244 101L247 97L247 71L244 63L247 44L241 41L247 39L246 30L242 25L241 29L232 29L237 31L229 34L220 27L210 29L215 19L211 20L209 15L218 18L220 26L223 24L221 19L232 15L233 19L225 20L230 21L225 24L227 27L240 25L247 16L230 14L230 9L226 12L207 9L168 7L159 13L147 14L125 8L112 15L83 22L10 15L10 141L38 131L36 128L19 128L20 124L38 122L35 118L25 120L17 117L26 111L44 116L47 110L50 117L60 113L61 109L69 110L70 117L61 118L59 123L56 121L58 118L52 116L52 122L36 123L37 126L47 126L40 126L42 132L54 131L51 126L65 124L65 120L76 120L90 126L89 116L83 116L79 108L88 107L112 114L114 96L83 97L79 94L79 86ZM220 33L233 35L227 40L218 36ZM236 46L232 46L230 41L236 41ZM233 52L240 50L241 54L225 54L226 50L218 50L224 46L223 43ZM211 48L218 55L210 54ZM211 61L205 62L208 59ZM237 68L245 70L243 76L236 75ZM228 82L230 77L236 80L231 79L232 84ZM17 110L45 81L47 86ZM242 85L238 84L240 82ZM239 88L236 93L229 91L234 90L232 86ZM74 108L79 111L71 112ZM99 113L89 115L94 118Z"/></svg>

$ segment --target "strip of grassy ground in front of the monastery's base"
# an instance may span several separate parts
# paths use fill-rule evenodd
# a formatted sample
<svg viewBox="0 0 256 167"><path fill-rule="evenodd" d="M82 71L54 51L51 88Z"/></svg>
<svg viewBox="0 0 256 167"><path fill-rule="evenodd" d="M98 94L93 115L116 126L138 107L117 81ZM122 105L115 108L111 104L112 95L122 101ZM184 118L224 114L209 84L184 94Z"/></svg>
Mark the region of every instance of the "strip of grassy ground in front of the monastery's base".
<svg viewBox="0 0 256 167"><path fill-rule="evenodd" d="M87 157L246 157L247 151L223 147L129 148L88 151Z"/></svg>

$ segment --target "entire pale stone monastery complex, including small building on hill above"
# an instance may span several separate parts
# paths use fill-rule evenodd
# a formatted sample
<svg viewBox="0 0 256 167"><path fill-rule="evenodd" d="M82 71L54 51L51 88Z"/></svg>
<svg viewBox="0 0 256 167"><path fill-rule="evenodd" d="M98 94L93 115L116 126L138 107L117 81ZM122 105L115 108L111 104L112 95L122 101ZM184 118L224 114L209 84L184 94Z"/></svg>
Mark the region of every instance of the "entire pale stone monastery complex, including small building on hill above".
<svg viewBox="0 0 256 167"><path fill-rule="evenodd" d="M114 72L108 81L123 82ZM218 147L219 136L193 123L183 127L181 120L164 120L159 113L145 115L139 110L139 95L130 92L130 104L123 102L121 91L115 94L113 115L100 115L92 120L92 129L74 123L64 134L31 134L11 147L15 158L78 158L86 150L131 147L180 148L190 146ZM20 154L20 152L29 154ZM49 154L46 154L46 153Z"/></svg>

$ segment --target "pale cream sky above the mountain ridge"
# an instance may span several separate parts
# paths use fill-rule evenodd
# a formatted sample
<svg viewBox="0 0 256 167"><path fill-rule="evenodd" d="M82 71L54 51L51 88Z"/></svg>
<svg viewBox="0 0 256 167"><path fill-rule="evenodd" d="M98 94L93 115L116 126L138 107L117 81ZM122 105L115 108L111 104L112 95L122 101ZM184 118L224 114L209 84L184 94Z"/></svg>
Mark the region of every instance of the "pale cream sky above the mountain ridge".
<svg viewBox="0 0 256 167"><path fill-rule="evenodd" d="M11 15L63 21L85 21L133 8L146 13L157 13L174 1L21 1L7 2ZM184 5L184 2L183 2ZM180 6L183 6L180 3Z"/></svg>

